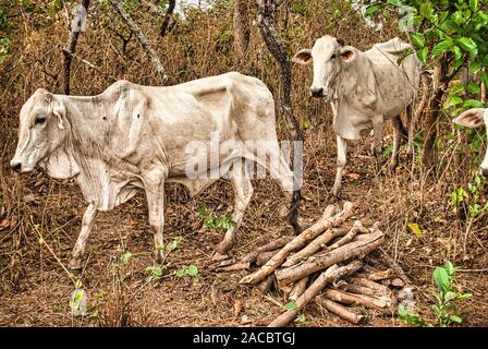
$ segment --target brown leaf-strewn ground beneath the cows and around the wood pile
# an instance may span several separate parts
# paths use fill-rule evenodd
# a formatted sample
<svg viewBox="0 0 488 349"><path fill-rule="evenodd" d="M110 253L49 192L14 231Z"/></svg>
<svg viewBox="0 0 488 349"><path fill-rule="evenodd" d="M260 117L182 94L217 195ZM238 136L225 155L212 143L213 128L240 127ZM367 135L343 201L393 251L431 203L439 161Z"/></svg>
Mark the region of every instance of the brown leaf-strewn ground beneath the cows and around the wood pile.
<svg viewBox="0 0 488 349"><path fill-rule="evenodd" d="M329 127L321 125L317 129ZM310 130L320 132L320 130ZM320 216L326 206L327 192L332 185L334 173L334 148L330 139L307 137L305 147L304 201L301 207L302 224L309 224ZM404 220L415 207L404 206L399 210L400 202L407 203L415 194L415 180L408 177L406 168L398 173L376 176L374 159L368 156L370 139L352 142L349 170L357 176L344 176L343 200L358 203L357 217L366 222L379 220L387 234L386 250L403 267L416 287L415 296L420 314L431 318L434 267L443 264L452 245L441 245L452 234L453 227L448 222L431 228L418 239L404 230ZM313 159L313 160L312 160ZM403 156L403 163L407 163ZM37 179L41 179L41 183ZM58 183L44 176L32 174L26 185L32 202L42 210L56 213L58 222L46 231L45 239L61 263L66 264L69 253L76 239L83 200L74 183ZM280 191L271 180L254 181L255 196L248 206L244 224L240 229L239 242L232 253L244 255L267 241L290 233L286 225L278 218L277 203L283 202ZM430 186L436 190L435 185ZM392 192L394 191L394 195ZM46 195L49 193L49 195ZM24 194L25 195L25 194ZM143 195L110 213L100 214L89 239L88 257L82 274L89 302L95 304L91 317L73 317L69 301L73 285L61 265L47 249L39 249L34 232L26 232L22 239L29 244L25 253L35 258L29 263L14 266L17 279L9 280L5 268L2 270L2 290L0 294L0 325L2 326L93 326L124 325L134 326L241 326L242 315L247 315L251 324L265 325L281 312L279 294L261 296L256 290L237 284L247 272L212 273L207 269L213 246L222 234L202 228L202 219L196 210L202 202L217 213L229 212L232 207L232 191L229 183L221 180L205 193L191 198L183 188L169 188L167 206L166 241L176 236L184 240L181 248L170 254L167 275L147 284L145 268L152 265L152 236L147 222L147 212ZM25 197L25 196L24 196ZM436 210L436 204L428 206L424 219L442 217ZM439 215L439 216L438 216ZM54 216L54 215L49 215ZM446 217L449 219L449 217ZM476 232L471 242L471 257L460 273L459 284L464 291L474 296L466 302L468 311L464 315L465 326L488 324L488 274L486 273L487 233ZM2 230L1 241L5 241L9 231ZM442 240L443 239L443 240ZM479 242L479 243L478 243ZM448 242L449 244L449 242ZM120 256L130 251L133 254L129 264L122 265ZM8 255L3 254L2 258ZM20 256L21 258L27 256ZM3 261L4 262L4 261ZM2 263L4 264L4 263ZM193 282L187 278L178 278L172 270L183 265L196 265L202 278ZM122 266L121 266L122 265ZM10 270L12 272L12 270ZM123 280L123 281L121 281ZM244 304L239 317L233 314L234 303ZM122 310L121 304L129 304ZM382 317L371 311L359 310L367 315L366 326L399 326L393 318ZM320 298L306 308L307 323L298 326L350 326L328 313L320 304ZM123 320L122 320L123 318Z"/></svg>

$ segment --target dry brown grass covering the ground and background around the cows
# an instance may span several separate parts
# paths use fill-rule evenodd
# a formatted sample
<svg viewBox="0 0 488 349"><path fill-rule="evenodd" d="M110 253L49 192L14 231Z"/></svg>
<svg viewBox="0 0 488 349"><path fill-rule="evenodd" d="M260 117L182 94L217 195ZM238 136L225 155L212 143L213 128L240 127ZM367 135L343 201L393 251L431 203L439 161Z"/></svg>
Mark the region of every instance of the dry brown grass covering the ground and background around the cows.
<svg viewBox="0 0 488 349"><path fill-rule="evenodd" d="M73 1L71 1L73 2ZM307 2L308 3L308 2ZM344 21L334 22L332 14L339 7ZM110 213L100 214L88 242L88 255L82 279L90 303L95 306L91 318L73 317L69 300L73 285L53 255L38 242L41 234L47 245L66 263L81 226L83 197L72 181L49 179L40 171L17 177L8 169L16 144L17 116L23 103L38 87L54 93L62 91L62 52L68 40L63 12L56 15L21 13L13 24L12 52L0 65L2 94L0 95L0 325L2 326L237 326L233 304L244 303L243 314L254 324L278 315L276 304L240 286L241 273L216 274L206 270L213 246L221 233L203 229L196 210L202 202L218 213L232 207L232 191L223 180L205 193L191 198L183 188L170 185L167 192L166 239L176 236L185 239L179 250L171 253L168 275L172 270L194 264L203 279L194 284L187 278L167 276L146 282L144 272L152 265L152 237L147 224L147 209L143 195ZM40 14L39 14L40 13ZM173 33L158 38L158 19L148 13L134 15L151 38L162 62L171 72L171 83L184 82L207 75L235 70L232 52L231 12L224 9L207 15L192 14L186 24L178 25ZM22 23L21 23L22 19ZM110 75L141 84L157 84L149 60L142 53L135 39L125 51L115 33L127 36L113 11L101 5L94 8L90 26L81 36L77 55L99 65ZM327 33L343 37L361 49L373 43L396 35L391 24L382 33L363 26L353 13L330 1L310 1L305 15L281 13L286 23L289 52L309 47L315 38ZM256 27L247 60L240 71L264 80L278 98L278 73ZM93 95L102 92L110 81L77 61L73 64L72 91ZM293 69L293 103L301 121L309 121L305 131L305 177L301 208L303 222L315 220L325 207L328 190L334 174L335 145L331 116L324 101L308 98L306 86L312 79L310 69ZM286 130L279 122L281 139ZM449 134L449 119L440 123L440 134ZM389 133L387 133L389 134ZM389 141L389 136L387 136ZM474 297L466 302L468 312L464 325L488 324L488 267L487 217L468 226L464 217L453 213L450 194L459 185L472 180L475 155L465 145L463 136L442 140L439 146L438 171L429 176L416 163L402 156L402 168L395 173L378 176L374 160L368 156L370 137L351 142L347 169L358 179L344 176L342 198L359 202L357 215L370 221L380 220L387 234L387 250L404 268L417 287L419 312L431 318L431 272L451 260L465 270L460 285ZM283 202L279 186L271 180L254 181L255 195L248 206L233 250L243 255L264 242L289 233L278 219L279 203ZM486 200L486 198L484 198ZM418 222L423 237L412 234L406 224ZM367 222L367 221L366 221ZM123 252L133 253L127 264L120 262ZM480 272L481 270L481 272ZM307 308L307 326L344 326L320 305ZM395 326L392 320L368 314L371 326Z"/></svg>

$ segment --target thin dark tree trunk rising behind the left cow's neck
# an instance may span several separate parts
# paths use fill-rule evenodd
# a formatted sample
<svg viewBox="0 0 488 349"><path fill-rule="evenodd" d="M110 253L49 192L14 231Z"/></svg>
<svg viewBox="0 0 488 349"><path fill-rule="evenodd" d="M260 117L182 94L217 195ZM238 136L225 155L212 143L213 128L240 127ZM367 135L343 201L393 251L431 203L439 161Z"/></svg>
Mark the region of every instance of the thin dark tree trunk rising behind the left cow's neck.
<svg viewBox="0 0 488 349"><path fill-rule="evenodd" d="M74 19L70 28L70 43L68 49L63 50L64 53L64 94L69 95L71 93L71 62L73 60L73 53L76 49L76 44L78 43L80 33L86 27L86 20L88 14L90 0L82 0L81 7L78 8L78 13Z"/></svg>

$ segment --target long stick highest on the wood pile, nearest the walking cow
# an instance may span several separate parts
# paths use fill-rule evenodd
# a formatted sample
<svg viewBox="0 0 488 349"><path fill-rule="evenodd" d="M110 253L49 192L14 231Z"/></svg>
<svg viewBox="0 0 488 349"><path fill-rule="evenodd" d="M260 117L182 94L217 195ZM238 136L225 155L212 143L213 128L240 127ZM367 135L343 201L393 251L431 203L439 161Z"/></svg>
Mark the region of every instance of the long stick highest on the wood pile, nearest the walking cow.
<svg viewBox="0 0 488 349"><path fill-rule="evenodd" d="M324 230L339 226L343 224L352 214L353 214L354 205L351 202L344 203L344 209L333 216L335 213L335 207L333 205L329 205L326 207L326 212L328 215L324 215L322 218L329 216L329 218L321 219L314 224L308 229L305 229L294 238L291 242L284 245L283 249L280 250L271 260L268 261L259 270L243 277L240 284L257 284L263 280L265 277L273 273L278 267L283 264L286 256L289 256L292 252L302 249L307 244L308 241L315 239L318 234L320 234Z"/></svg>

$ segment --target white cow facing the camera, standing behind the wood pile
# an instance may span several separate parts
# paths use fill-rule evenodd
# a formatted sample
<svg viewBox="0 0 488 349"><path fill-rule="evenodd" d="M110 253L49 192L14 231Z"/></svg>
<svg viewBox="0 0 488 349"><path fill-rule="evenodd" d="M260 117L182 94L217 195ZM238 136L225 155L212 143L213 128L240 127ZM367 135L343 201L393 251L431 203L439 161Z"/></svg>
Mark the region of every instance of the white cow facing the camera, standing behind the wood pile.
<svg viewBox="0 0 488 349"><path fill-rule="evenodd" d="M325 97L333 111L337 133L338 163L332 200L341 189L342 169L346 164L346 140L356 140L359 132L373 127L374 153L378 169L381 167L383 120L391 118L394 144L391 166L398 165L401 141L405 137L400 115L416 100L420 62L415 55L403 58L411 46L399 38L376 44L366 52L332 36L322 36L314 48L302 49L292 61L300 64L314 62L313 97ZM403 58L403 59L402 59ZM399 60L401 63L399 64ZM407 115L412 112L408 110ZM408 148L413 148L414 120L410 120Z"/></svg>

